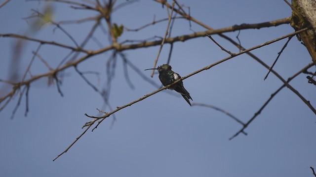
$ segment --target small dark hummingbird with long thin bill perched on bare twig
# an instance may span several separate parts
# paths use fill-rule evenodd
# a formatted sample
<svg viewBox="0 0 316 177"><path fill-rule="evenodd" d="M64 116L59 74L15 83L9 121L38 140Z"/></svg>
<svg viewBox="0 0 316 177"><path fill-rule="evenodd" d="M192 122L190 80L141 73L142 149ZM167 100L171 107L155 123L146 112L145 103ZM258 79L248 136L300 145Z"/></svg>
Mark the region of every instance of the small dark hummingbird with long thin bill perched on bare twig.
<svg viewBox="0 0 316 177"><path fill-rule="evenodd" d="M162 64L161 66L158 66L158 68L151 68L151 69L158 70L159 80L163 86L167 86L169 84L172 84L181 78L181 76L178 73L175 73L171 70L171 66L169 64ZM150 69L145 69L145 70L150 70ZM174 89L175 91L180 93L183 96L183 98L191 106L189 99L191 99L191 100L193 100L193 99L191 98L190 93L184 88L182 81L170 86L170 88L168 88L168 89Z"/></svg>

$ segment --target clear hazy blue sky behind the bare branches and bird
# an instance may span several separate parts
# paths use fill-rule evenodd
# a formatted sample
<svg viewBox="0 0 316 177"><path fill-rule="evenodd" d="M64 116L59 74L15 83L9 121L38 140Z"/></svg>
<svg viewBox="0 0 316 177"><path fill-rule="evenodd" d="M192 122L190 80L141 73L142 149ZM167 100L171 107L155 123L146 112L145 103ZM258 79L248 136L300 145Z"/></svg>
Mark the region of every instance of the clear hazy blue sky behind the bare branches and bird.
<svg viewBox="0 0 316 177"><path fill-rule="evenodd" d="M83 2L83 1L80 1ZM118 0L123 2L123 0ZM282 19L291 15L291 9L282 0L182 0L190 6L191 15L197 20L220 29L242 23L261 23ZM0 9L0 33L25 34L30 29L22 18L30 16L31 9L43 9L44 2L10 1ZM93 16L87 10L69 9L69 5L54 6L55 21L80 19ZM154 1L139 0L113 14L113 23L130 29L138 28L156 19L166 18L165 8ZM63 25L80 43L93 23ZM163 36L167 23L160 23L139 32L124 31L118 39L147 39ZM194 31L205 30L192 24ZM286 35L294 30L289 25L265 29L242 30L239 35L245 48ZM178 20L172 36L189 34L189 23ZM226 33L236 39L236 32ZM28 33L34 38L72 45L72 41L59 29L46 25L37 32ZM109 44L108 36L97 29L94 35L103 47ZM237 53L231 43L214 35L213 38L226 49ZM8 77L10 59L16 40L0 38L0 78ZM286 39L253 51L257 57L271 65ZM15 68L23 74L37 43L26 42L20 66ZM90 41L87 48L98 49ZM158 64L167 61L169 45L162 49ZM56 67L68 51L44 45L40 55ZM158 46L125 51L127 59L150 76L158 53ZM101 54L78 65L81 71L97 71L87 78L98 88L106 85L106 63L110 53ZM206 65L228 57L209 38L201 37L173 46L170 65L181 76L186 76ZM282 53L275 70L284 78L292 76L311 62L306 48L293 37ZM32 65L33 75L48 69L36 59ZM272 73L267 73L254 59L241 55L203 71L183 81L194 103L220 107L246 122L282 83ZM155 91L128 67L129 78L135 89L130 89L124 78L123 62L116 61L115 78L111 84L109 102L113 108ZM29 76L28 76L29 77ZM158 75L151 78L160 84ZM306 75L290 82L291 86L310 100L315 107L315 86L307 83ZM3 88L4 84L0 83ZM3 89L2 89L3 90ZM1 91L2 91L1 90ZM15 97L0 112L0 176L3 177L311 177L310 166L316 167L316 117L315 114L291 90L282 89L265 110L246 128L248 136L229 138L240 128L232 118L205 107L190 107L172 91L161 91L137 104L116 113L117 121L111 128L112 118L106 119L93 132L87 132L67 153L52 161L67 148L83 131L82 125L90 121L84 116L98 115L97 108L104 107L98 93L90 88L74 68L65 71L61 90L56 85L47 87L47 78L31 84L29 91L30 111L25 112L25 97L13 119L12 111L17 103ZM0 93L0 95L6 94ZM174 91L173 91L174 92ZM174 92L175 93L175 92Z"/></svg>

